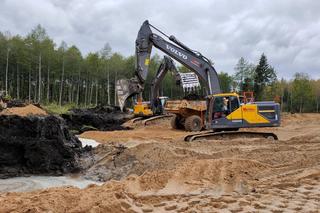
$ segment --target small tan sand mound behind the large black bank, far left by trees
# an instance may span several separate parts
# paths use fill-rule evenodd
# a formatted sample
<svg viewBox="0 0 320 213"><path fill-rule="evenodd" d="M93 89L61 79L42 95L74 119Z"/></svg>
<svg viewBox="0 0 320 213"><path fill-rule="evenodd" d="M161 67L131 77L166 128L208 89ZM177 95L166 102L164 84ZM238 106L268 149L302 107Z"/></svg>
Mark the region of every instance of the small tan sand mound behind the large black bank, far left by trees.
<svg viewBox="0 0 320 213"><path fill-rule="evenodd" d="M12 107L4 109L0 112L0 115L19 115L19 116L29 116L29 115L48 115L46 111L43 109L33 105L29 104L24 107Z"/></svg>

